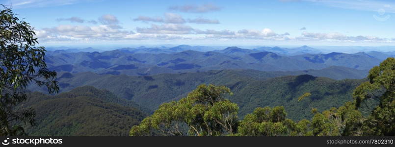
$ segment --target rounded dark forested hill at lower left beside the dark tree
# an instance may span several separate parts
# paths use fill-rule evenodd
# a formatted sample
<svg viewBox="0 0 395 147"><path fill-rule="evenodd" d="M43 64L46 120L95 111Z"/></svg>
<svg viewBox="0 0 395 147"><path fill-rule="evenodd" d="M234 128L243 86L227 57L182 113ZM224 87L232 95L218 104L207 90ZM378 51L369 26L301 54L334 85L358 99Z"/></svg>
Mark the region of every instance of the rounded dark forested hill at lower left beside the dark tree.
<svg viewBox="0 0 395 147"><path fill-rule="evenodd" d="M32 136L127 136L128 128L147 115L134 102L88 86L55 96L34 92L28 97L24 106L36 111L36 125L26 126Z"/></svg>

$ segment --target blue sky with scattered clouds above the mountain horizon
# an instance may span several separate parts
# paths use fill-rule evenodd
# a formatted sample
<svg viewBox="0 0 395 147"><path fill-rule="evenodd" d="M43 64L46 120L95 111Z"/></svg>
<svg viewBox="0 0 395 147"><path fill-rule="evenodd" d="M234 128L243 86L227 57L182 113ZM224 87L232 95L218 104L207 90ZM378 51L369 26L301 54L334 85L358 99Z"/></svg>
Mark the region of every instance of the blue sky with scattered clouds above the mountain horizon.
<svg viewBox="0 0 395 147"><path fill-rule="evenodd" d="M0 0L40 45L394 46L395 0Z"/></svg>

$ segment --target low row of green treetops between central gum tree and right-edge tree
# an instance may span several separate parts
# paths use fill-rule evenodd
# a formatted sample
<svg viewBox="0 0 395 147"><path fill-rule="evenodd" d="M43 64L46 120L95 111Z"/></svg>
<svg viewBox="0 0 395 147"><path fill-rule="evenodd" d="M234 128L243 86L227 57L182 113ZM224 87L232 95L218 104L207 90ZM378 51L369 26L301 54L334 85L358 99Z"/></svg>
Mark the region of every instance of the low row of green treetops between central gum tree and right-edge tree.
<svg viewBox="0 0 395 147"><path fill-rule="evenodd" d="M322 113L311 121L286 119L283 106L256 108L239 123L239 136L355 136L361 135L362 114L351 102Z"/></svg>

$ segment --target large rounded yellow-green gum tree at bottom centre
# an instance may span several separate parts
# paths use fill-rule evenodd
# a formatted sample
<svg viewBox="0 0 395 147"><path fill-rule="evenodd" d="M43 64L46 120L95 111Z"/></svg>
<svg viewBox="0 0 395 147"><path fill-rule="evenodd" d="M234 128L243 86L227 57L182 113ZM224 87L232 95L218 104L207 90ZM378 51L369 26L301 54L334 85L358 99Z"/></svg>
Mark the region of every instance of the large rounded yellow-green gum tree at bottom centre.
<svg viewBox="0 0 395 147"><path fill-rule="evenodd" d="M133 126L130 135L233 135L237 132L238 106L225 99L225 94L232 92L224 86L199 85L186 98L160 105L153 115Z"/></svg>

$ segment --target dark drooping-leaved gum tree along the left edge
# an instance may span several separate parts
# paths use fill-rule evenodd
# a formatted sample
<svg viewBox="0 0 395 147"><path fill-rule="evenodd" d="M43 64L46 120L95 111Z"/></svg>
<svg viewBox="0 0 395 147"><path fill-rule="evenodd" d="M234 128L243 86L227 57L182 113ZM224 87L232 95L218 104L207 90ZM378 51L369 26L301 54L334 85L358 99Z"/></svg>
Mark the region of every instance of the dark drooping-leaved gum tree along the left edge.
<svg viewBox="0 0 395 147"><path fill-rule="evenodd" d="M45 48L34 47L33 28L3 6L0 10L0 136L24 135L17 124L34 124L33 109L23 106L26 86L35 83L58 91L56 73L47 69Z"/></svg>

